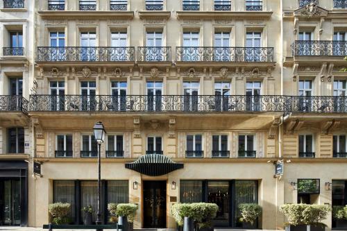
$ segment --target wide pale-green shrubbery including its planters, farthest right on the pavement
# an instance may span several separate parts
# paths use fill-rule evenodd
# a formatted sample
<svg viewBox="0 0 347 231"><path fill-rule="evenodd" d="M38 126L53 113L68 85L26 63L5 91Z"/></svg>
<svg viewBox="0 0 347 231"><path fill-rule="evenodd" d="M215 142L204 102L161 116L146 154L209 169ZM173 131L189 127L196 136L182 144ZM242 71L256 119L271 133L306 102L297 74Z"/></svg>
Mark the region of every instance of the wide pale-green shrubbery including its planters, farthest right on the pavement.
<svg viewBox="0 0 347 231"><path fill-rule="evenodd" d="M325 224L321 223L327 218L330 207L326 205L287 204L280 207L288 223L287 231L324 231Z"/></svg>

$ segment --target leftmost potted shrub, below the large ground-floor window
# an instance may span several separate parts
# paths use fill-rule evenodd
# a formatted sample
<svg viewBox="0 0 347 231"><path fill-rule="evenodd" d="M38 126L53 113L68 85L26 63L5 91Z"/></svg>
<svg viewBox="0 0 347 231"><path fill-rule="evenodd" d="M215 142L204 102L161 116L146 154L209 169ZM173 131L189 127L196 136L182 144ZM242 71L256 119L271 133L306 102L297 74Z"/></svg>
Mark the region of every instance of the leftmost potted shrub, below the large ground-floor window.
<svg viewBox="0 0 347 231"><path fill-rule="evenodd" d="M71 205L69 203L49 204L49 213L53 217L52 223L55 225L67 225L71 222L69 218Z"/></svg>

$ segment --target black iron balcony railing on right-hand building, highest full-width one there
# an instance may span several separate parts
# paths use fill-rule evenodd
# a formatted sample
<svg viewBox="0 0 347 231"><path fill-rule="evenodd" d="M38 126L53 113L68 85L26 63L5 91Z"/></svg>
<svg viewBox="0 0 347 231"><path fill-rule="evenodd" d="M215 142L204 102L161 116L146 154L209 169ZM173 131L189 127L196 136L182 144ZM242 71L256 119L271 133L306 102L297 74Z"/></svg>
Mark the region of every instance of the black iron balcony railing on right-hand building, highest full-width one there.
<svg viewBox="0 0 347 231"><path fill-rule="evenodd" d="M301 41L291 45L292 55L298 56L346 56L347 42Z"/></svg>

